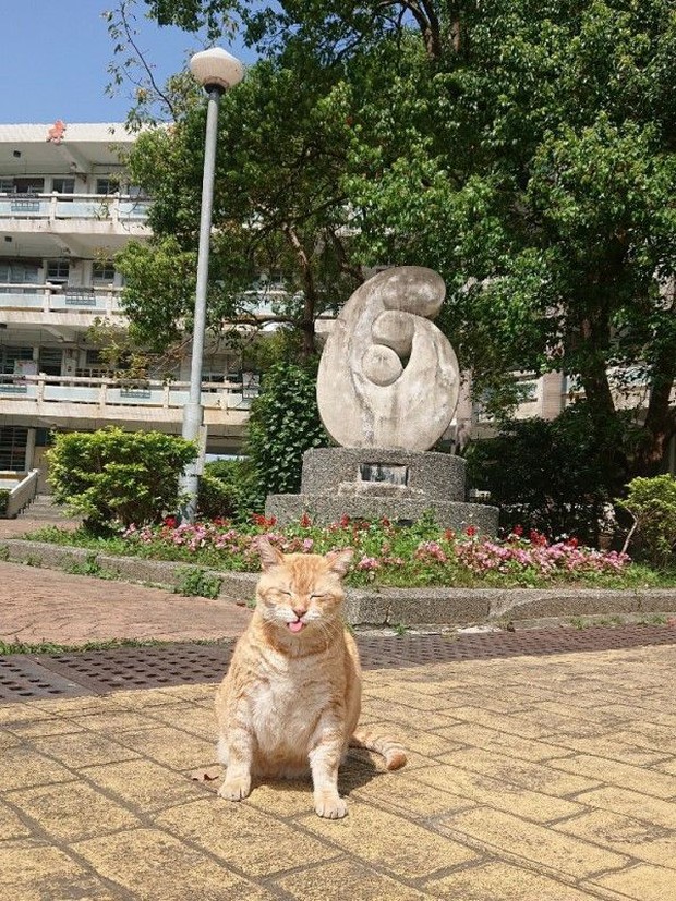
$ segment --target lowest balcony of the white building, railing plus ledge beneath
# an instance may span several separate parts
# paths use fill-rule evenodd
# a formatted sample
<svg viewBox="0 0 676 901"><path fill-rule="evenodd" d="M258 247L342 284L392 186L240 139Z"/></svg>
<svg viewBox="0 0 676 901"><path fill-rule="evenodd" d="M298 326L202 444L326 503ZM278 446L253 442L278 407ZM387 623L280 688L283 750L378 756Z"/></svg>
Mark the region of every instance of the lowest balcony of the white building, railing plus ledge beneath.
<svg viewBox="0 0 676 901"><path fill-rule="evenodd" d="M241 438L255 390L202 386L208 435ZM180 434L186 382L121 381L45 375L0 375L0 425L96 429L107 425Z"/></svg>

